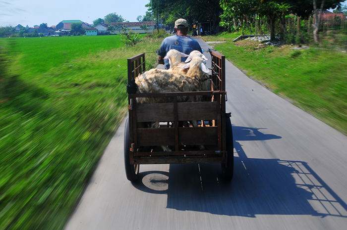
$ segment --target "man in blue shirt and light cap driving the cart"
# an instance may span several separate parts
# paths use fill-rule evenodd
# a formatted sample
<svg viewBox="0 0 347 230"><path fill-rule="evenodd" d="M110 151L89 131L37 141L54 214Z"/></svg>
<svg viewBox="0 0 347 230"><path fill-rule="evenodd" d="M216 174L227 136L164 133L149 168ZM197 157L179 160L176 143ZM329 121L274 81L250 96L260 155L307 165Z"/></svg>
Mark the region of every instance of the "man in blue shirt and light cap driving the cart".
<svg viewBox="0 0 347 230"><path fill-rule="evenodd" d="M158 63L164 64L165 69L170 68L169 59L164 59L166 53L170 49L176 49L185 54L189 54L193 50L198 50L202 52L199 43L194 39L187 37L188 22L185 19L177 19L174 22L173 30L176 33L176 35L165 38L157 52L157 54L159 55ZM186 59L187 57L181 57L181 61L185 61Z"/></svg>

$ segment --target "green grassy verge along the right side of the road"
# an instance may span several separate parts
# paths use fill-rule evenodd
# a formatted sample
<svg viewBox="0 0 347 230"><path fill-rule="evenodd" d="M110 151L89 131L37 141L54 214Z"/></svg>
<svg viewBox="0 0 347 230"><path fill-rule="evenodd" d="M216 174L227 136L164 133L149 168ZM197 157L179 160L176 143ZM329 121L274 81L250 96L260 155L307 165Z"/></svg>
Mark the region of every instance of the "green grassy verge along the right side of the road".
<svg viewBox="0 0 347 230"><path fill-rule="evenodd" d="M237 36L225 36L226 43L214 48L248 77L347 135L347 53L341 49L346 39L308 49L288 45L255 49L259 43L250 40L233 43Z"/></svg>

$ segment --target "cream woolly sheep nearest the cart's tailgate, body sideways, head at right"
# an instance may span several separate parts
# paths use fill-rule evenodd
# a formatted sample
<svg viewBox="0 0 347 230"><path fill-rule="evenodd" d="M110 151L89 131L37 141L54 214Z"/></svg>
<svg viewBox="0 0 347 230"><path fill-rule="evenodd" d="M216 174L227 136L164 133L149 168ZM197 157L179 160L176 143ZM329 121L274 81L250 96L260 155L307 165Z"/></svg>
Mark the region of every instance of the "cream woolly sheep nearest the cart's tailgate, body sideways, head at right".
<svg viewBox="0 0 347 230"><path fill-rule="evenodd" d="M160 92L192 92L204 90L204 79L209 69L206 67L202 57L194 57L186 74L177 73L174 69L160 70L151 69L140 74L136 79L137 93L160 93ZM137 103L167 103L172 102L171 97L137 97ZM177 102L202 101L202 96L180 96ZM196 121L192 121L193 127L198 127ZM158 128L159 122L153 122L152 128ZM164 151L171 151L167 146L162 146ZM204 149L204 146L200 146Z"/></svg>

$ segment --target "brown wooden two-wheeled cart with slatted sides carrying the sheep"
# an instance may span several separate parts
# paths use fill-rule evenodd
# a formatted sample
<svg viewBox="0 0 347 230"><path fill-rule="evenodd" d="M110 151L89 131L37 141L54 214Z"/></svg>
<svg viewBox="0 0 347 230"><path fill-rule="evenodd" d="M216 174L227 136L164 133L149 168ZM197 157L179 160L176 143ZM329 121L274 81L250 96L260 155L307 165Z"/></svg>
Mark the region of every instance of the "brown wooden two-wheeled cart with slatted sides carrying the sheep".
<svg viewBox="0 0 347 230"><path fill-rule="evenodd" d="M233 174L230 113L226 113L225 56L211 53L211 91L136 93L128 90L128 119L124 132L126 177L138 179L141 164L220 163L225 180ZM128 83L146 69L145 53L127 59ZM127 85L128 86L128 85ZM200 102L177 102L180 96L202 95ZM137 97L172 97L172 103L136 103ZM200 121L192 127L190 121ZM151 122L160 121L159 128ZM182 125L185 124L185 125ZM160 146L172 151L163 151ZM202 150L201 147L203 146Z"/></svg>

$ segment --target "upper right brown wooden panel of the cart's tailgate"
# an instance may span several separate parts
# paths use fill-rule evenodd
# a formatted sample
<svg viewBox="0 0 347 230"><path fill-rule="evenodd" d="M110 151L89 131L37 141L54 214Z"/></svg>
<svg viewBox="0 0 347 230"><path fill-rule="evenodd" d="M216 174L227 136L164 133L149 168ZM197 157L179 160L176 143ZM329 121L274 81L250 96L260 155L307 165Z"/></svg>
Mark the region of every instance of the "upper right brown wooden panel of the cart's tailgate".
<svg viewBox="0 0 347 230"><path fill-rule="evenodd" d="M215 120L217 108L215 101L178 103L178 121Z"/></svg>

